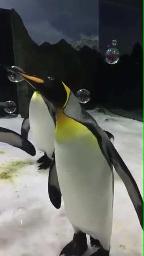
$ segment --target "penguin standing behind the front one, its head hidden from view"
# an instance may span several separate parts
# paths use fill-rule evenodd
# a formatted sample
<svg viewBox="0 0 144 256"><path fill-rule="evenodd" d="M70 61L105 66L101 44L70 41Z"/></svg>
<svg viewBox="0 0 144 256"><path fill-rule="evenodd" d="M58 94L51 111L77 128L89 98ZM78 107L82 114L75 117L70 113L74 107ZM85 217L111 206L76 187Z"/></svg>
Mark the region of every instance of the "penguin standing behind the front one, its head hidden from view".
<svg viewBox="0 0 144 256"><path fill-rule="evenodd" d="M44 152L44 156L37 160L41 163L39 169L49 168L54 151L55 111L53 105L44 97L42 98L38 91L32 95L29 118L23 120L22 138L28 138L30 129L35 146Z"/></svg>

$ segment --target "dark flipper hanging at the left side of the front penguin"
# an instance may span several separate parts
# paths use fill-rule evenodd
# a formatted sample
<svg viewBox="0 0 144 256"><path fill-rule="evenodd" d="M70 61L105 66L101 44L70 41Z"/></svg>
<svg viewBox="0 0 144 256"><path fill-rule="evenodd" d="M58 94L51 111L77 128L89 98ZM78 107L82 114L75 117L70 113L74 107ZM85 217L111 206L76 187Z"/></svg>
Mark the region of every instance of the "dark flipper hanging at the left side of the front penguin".
<svg viewBox="0 0 144 256"><path fill-rule="evenodd" d="M62 194L59 188L55 159L53 159L49 170L48 192L51 203L55 208L59 209L62 202Z"/></svg>

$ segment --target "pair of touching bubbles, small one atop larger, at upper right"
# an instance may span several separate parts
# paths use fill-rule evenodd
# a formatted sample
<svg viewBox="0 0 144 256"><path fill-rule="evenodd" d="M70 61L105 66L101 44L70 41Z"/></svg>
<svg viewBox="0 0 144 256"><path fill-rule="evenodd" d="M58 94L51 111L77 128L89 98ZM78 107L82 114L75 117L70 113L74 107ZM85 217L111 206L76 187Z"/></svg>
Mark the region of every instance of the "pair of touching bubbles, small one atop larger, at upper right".
<svg viewBox="0 0 144 256"><path fill-rule="evenodd" d="M105 61L108 63L108 64L116 64L119 60L119 51L118 49L116 48L117 46L117 40L116 39L113 39L112 40L112 46L111 45L108 45L108 49L105 53Z"/></svg>

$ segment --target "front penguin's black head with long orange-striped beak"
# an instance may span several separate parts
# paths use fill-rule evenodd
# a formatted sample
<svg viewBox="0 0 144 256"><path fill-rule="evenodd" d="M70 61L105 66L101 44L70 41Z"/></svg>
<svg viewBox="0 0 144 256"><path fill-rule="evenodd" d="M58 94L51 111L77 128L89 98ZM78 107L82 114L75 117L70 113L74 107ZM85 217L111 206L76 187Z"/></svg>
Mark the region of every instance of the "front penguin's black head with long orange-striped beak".
<svg viewBox="0 0 144 256"><path fill-rule="evenodd" d="M12 68L9 66L3 67L6 68L7 71L11 71L24 78L24 80L26 80L34 90L39 91L39 93L48 99L56 109L63 108L67 101L66 86L63 82L59 81L53 76L48 75L46 77L38 77L21 72L17 68Z"/></svg>

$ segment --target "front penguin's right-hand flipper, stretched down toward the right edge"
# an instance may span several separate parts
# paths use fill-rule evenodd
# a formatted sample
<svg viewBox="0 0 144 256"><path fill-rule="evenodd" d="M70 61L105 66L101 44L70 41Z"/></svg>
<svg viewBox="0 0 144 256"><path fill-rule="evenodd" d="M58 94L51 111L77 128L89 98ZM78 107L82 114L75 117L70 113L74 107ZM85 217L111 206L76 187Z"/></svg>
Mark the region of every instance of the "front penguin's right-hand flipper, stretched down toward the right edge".
<svg viewBox="0 0 144 256"><path fill-rule="evenodd" d="M120 155L118 154L118 152L116 151L116 149L110 141L107 142L107 150L111 158L111 162L114 166L114 169L116 170L117 174L120 176L123 183L125 184L127 192L131 198L131 201L138 215L140 225L143 229L143 199L139 192L138 185L136 184L129 169L127 168L122 158L120 157Z"/></svg>

